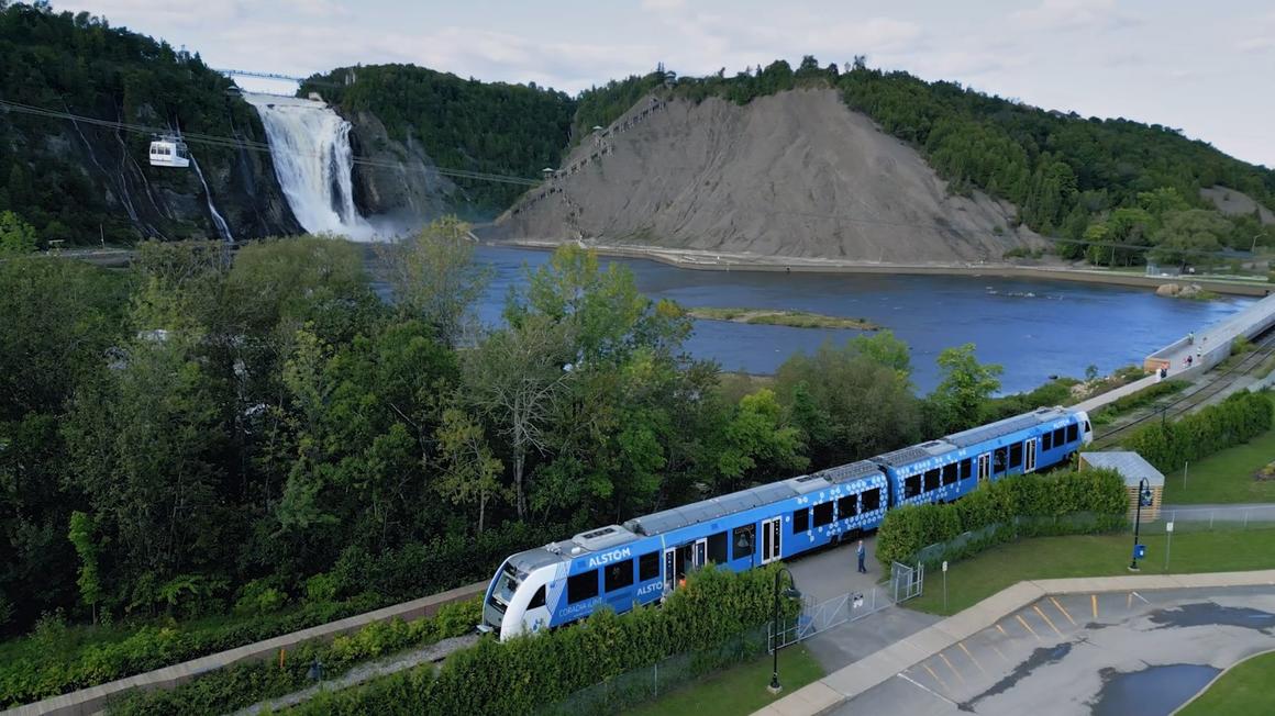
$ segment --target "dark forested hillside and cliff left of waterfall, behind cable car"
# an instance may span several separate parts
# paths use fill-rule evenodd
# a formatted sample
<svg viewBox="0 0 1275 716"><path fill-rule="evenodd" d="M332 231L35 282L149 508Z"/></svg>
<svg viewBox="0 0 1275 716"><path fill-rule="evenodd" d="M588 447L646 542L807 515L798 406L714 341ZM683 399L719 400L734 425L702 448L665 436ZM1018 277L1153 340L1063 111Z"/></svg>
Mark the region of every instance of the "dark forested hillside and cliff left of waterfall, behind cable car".
<svg viewBox="0 0 1275 716"><path fill-rule="evenodd" d="M103 18L0 0L5 102L138 127L261 139L255 111L227 94L231 85L198 54L112 28ZM0 107L0 211L34 226L42 243L215 237L199 178L147 166L149 141L147 131ZM232 229L260 236L295 228L268 158L208 145L194 153Z"/></svg>

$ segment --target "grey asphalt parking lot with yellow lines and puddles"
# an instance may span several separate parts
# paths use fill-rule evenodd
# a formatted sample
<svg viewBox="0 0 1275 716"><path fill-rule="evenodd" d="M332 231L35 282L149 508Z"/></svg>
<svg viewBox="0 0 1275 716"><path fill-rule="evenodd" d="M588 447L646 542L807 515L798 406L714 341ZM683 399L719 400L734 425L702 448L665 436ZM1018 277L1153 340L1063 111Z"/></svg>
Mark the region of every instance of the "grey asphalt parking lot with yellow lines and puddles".
<svg viewBox="0 0 1275 716"><path fill-rule="evenodd" d="M1162 716L1271 648L1270 586L1047 596L834 712Z"/></svg>

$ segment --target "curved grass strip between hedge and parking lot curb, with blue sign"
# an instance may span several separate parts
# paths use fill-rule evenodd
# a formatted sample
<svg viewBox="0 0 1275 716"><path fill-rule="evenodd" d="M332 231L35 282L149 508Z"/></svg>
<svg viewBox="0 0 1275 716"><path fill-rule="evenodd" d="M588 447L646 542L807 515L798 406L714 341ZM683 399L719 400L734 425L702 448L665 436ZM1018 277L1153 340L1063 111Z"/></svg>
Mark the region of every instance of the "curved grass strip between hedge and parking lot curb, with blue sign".
<svg viewBox="0 0 1275 716"><path fill-rule="evenodd" d="M1139 563L1142 575L1275 568L1275 527L1178 531L1173 535L1168 571L1165 535L1144 534L1141 541L1146 545L1146 558ZM926 575L924 594L905 605L946 615L1024 580L1128 575L1132 549L1132 534L1025 539L949 564L947 609L943 609L943 577L937 569Z"/></svg>

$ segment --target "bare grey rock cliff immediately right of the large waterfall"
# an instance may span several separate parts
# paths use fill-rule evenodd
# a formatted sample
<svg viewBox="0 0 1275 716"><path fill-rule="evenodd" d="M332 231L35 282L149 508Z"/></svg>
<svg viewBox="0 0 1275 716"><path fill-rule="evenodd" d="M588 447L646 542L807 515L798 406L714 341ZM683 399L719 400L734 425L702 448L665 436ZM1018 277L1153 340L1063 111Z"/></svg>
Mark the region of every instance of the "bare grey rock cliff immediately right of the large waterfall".
<svg viewBox="0 0 1275 716"><path fill-rule="evenodd" d="M390 139L375 115L343 115L351 122L351 145L361 162L354 166L354 204L365 217L422 224L446 214L460 194L436 171L425 148L408 132L405 141Z"/></svg>

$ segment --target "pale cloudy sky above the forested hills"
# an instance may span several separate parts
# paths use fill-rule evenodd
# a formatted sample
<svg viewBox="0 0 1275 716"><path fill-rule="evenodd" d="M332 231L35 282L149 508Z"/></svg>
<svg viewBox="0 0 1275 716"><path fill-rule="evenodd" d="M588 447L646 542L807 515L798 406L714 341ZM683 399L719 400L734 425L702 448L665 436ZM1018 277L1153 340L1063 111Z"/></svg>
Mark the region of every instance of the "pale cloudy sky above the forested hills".
<svg viewBox="0 0 1275 716"><path fill-rule="evenodd" d="M868 64L1084 116L1182 129L1275 167L1275 4L1258 0L54 1L199 51L306 75L414 62L575 93L663 61ZM246 83L245 83L246 84ZM260 89L261 85L254 88ZM278 88L275 88L278 89Z"/></svg>

